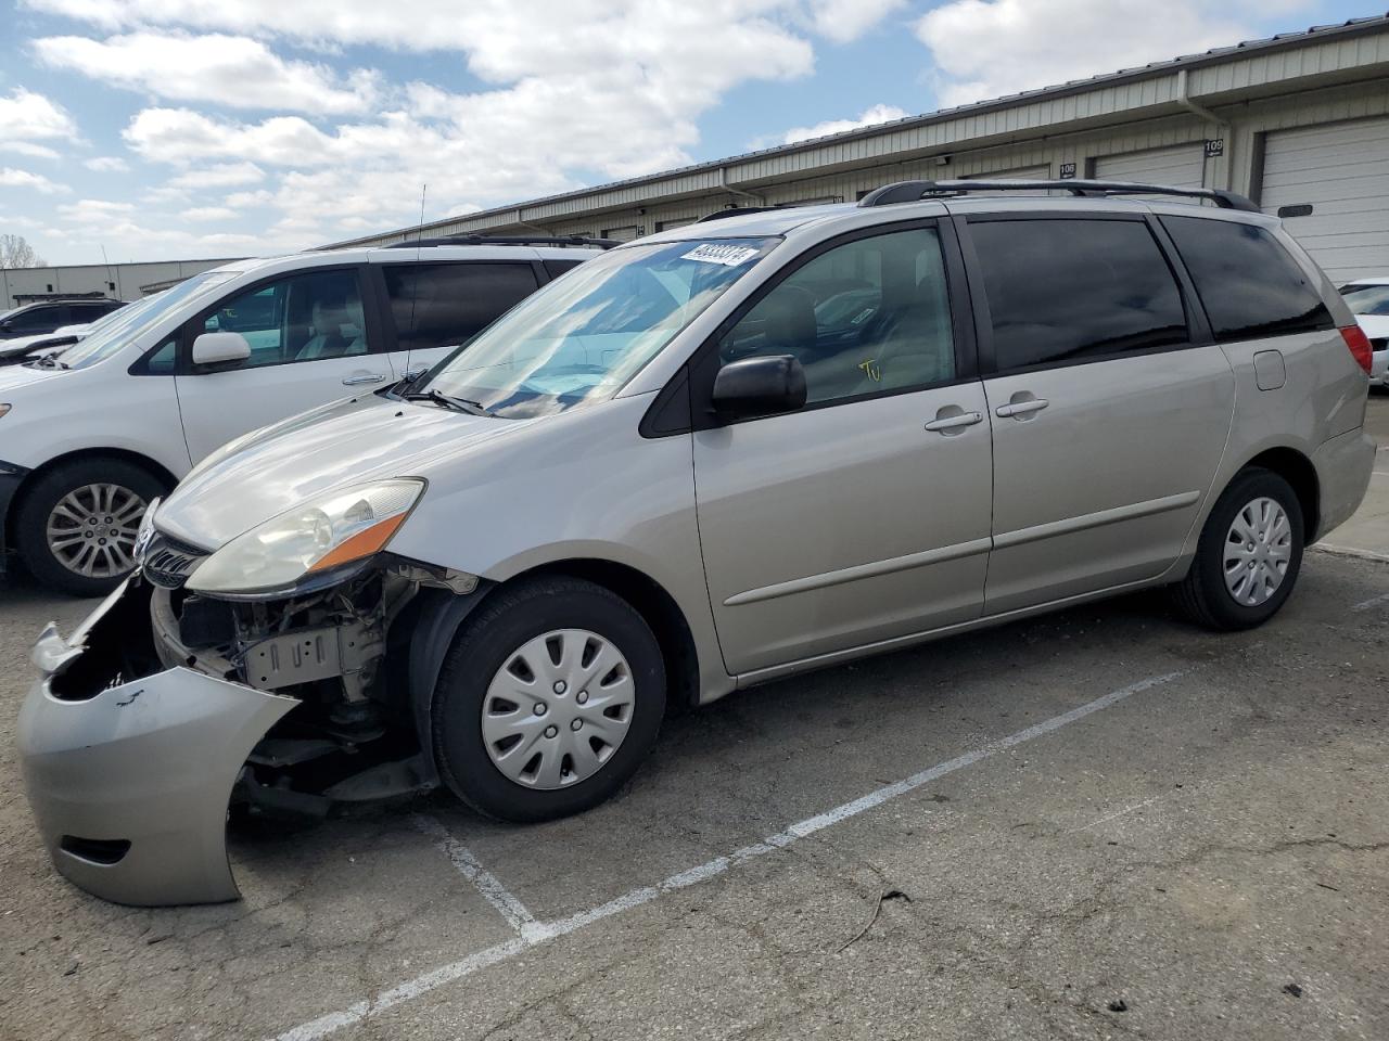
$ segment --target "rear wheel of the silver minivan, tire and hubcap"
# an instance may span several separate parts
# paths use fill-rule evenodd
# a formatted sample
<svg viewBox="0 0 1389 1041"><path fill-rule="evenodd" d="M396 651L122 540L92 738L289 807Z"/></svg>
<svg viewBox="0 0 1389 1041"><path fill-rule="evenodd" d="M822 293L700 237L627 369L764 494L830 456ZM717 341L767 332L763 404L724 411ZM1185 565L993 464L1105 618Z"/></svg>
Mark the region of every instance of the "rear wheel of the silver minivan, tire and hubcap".
<svg viewBox="0 0 1389 1041"><path fill-rule="evenodd" d="M1192 569L1175 590L1178 605L1210 629L1263 625L1293 591L1303 539L1292 486L1272 471L1243 471L1206 519Z"/></svg>

